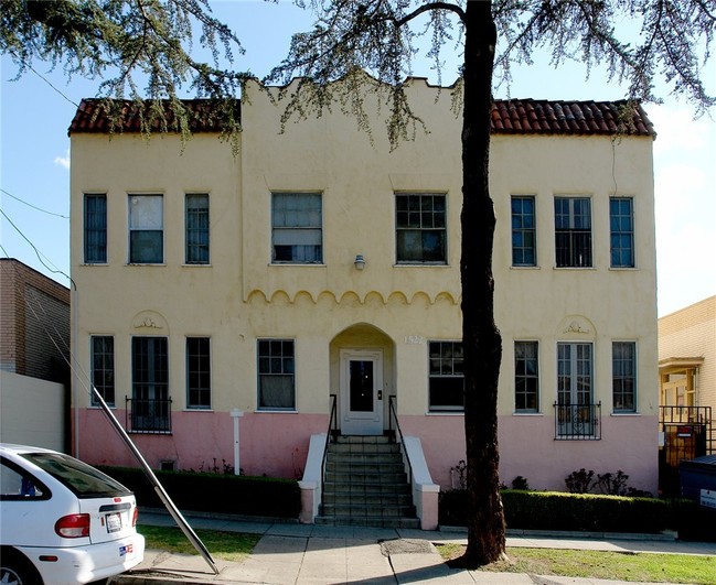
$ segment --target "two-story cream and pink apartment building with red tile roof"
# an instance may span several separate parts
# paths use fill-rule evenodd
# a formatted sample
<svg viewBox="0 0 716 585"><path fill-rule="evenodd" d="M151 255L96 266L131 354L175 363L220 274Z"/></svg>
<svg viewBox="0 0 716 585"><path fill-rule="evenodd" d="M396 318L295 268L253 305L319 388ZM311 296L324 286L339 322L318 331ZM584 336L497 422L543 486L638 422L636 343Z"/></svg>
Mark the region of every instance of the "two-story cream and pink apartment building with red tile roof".
<svg viewBox="0 0 716 585"><path fill-rule="evenodd" d="M234 412L244 473L300 477L335 394L345 435L383 434L393 402L432 479L451 486L471 237L459 228L461 119L449 88L406 85L429 132L395 150L384 113L372 140L339 111L281 133L282 104L250 85L236 156L211 122L183 151L174 134L147 141L136 117L110 139L99 102L82 102L70 129L73 349L151 465L233 462ZM655 491L655 134L641 108L620 128L619 108L493 109L507 484L564 489L585 467ZM131 464L81 396L79 455Z"/></svg>

